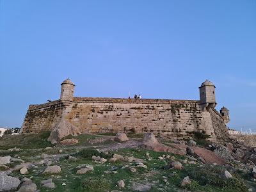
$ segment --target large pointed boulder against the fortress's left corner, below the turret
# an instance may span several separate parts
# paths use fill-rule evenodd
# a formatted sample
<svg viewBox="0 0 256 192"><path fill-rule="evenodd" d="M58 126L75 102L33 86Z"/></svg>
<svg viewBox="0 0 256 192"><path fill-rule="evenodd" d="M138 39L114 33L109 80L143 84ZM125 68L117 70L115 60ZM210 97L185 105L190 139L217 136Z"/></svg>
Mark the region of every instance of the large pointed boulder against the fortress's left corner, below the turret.
<svg viewBox="0 0 256 192"><path fill-rule="evenodd" d="M51 141L52 144L59 143L62 138L68 135L77 135L79 130L74 125L67 122L65 118L61 118L60 122L52 130L48 141Z"/></svg>

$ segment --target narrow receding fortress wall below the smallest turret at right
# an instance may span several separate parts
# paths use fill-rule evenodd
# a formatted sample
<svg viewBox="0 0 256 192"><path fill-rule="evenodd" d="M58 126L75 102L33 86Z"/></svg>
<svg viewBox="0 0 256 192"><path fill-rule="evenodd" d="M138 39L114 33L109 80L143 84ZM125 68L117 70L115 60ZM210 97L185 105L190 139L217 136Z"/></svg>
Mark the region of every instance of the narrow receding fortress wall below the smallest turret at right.
<svg viewBox="0 0 256 192"><path fill-rule="evenodd" d="M217 140L227 141L229 138L228 129L225 125L223 117L216 109L209 110L212 120L214 132Z"/></svg>

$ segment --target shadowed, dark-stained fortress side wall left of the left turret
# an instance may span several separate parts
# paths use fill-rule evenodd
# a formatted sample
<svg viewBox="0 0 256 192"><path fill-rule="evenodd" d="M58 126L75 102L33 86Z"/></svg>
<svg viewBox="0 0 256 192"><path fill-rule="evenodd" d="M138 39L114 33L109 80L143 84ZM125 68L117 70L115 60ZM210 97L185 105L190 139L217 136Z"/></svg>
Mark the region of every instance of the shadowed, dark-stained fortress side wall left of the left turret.
<svg viewBox="0 0 256 192"><path fill-rule="evenodd" d="M60 120L63 104L60 100L30 105L22 124L22 133L51 131Z"/></svg>

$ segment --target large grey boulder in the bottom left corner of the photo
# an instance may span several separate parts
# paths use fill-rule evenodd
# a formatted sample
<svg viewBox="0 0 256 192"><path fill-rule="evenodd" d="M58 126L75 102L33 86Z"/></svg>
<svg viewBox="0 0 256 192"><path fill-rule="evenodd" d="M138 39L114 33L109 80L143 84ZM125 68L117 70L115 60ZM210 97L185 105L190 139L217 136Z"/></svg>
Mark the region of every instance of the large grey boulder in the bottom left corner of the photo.
<svg viewBox="0 0 256 192"><path fill-rule="evenodd" d="M0 191L15 191L19 184L19 179L10 177L5 172L0 172Z"/></svg>

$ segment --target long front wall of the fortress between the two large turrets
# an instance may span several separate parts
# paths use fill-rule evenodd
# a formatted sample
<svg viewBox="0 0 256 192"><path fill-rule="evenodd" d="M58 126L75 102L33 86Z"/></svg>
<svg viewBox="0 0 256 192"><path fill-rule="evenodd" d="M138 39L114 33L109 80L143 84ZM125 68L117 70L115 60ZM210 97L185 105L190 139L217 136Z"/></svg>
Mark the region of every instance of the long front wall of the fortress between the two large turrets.
<svg viewBox="0 0 256 192"><path fill-rule="evenodd" d="M153 132L172 139L205 131L215 137L209 112L198 100L75 97L65 118L81 132Z"/></svg>

